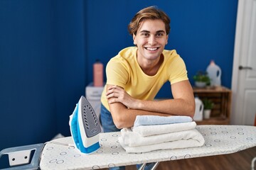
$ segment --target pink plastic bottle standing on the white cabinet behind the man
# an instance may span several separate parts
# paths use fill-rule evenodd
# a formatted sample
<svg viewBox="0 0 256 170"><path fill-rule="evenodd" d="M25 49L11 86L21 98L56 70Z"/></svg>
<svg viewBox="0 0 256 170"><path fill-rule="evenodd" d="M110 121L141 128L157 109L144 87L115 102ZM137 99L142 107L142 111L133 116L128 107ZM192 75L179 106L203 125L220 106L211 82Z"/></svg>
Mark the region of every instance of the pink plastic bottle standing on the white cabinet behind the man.
<svg viewBox="0 0 256 170"><path fill-rule="evenodd" d="M103 86L103 64L100 60L93 64L93 86Z"/></svg>

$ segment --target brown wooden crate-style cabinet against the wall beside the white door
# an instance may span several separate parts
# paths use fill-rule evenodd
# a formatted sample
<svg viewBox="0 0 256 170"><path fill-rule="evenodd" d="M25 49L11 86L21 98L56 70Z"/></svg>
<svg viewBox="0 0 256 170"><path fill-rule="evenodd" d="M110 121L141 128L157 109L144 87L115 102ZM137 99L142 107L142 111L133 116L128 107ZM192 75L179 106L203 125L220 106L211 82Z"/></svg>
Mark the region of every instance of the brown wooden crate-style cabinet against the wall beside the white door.
<svg viewBox="0 0 256 170"><path fill-rule="evenodd" d="M197 125L228 125L230 124L232 91L224 86L198 88L193 93L201 100L208 98L215 104L209 119L196 121Z"/></svg>

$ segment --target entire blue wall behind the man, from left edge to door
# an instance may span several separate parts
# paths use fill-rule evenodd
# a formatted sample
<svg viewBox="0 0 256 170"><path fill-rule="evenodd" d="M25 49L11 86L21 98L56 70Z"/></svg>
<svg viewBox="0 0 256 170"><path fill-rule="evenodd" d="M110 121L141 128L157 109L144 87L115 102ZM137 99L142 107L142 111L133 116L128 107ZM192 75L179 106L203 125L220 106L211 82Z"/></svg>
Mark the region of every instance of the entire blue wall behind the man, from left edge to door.
<svg viewBox="0 0 256 170"><path fill-rule="evenodd" d="M127 25L151 5L171 17L166 49L183 57L188 77L213 59L230 88L238 1L1 0L0 150L70 135L69 115L93 62L106 65L133 45ZM166 91L169 84L158 96L171 96Z"/></svg>

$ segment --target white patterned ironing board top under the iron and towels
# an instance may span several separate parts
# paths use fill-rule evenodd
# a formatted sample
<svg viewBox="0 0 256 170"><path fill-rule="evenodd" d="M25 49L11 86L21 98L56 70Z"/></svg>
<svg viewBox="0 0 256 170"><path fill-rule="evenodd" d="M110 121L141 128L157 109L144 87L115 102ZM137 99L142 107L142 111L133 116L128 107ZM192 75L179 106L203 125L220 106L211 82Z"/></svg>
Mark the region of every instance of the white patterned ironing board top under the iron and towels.
<svg viewBox="0 0 256 170"><path fill-rule="evenodd" d="M203 147L186 149L166 149L154 152L127 154L119 145L120 132L100 134L100 149L86 155L75 147L60 144L72 144L71 137L48 142L41 154L40 168L48 169L102 169L113 166L164 162L176 159L206 157L218 154L230 154L256 146L256 127L246 125L198 125L206 142Z"/></svg>

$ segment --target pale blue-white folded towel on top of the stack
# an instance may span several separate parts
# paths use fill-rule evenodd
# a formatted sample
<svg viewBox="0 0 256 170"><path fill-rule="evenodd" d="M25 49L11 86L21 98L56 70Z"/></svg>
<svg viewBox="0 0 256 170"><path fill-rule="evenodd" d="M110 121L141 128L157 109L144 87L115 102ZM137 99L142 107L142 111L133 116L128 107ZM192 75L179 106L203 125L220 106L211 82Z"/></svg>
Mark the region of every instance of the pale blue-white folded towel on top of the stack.
<svg viewBox="0 0 256 170"><path fill-rule="evenodd" d="M164 125L171 123L188 123L193 119L186 115L171 115L171 116L159 116L159 115L137 115L134 121L134 127L139 125Z"/></svg>

